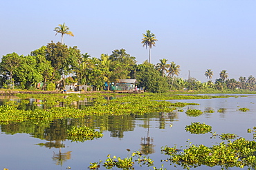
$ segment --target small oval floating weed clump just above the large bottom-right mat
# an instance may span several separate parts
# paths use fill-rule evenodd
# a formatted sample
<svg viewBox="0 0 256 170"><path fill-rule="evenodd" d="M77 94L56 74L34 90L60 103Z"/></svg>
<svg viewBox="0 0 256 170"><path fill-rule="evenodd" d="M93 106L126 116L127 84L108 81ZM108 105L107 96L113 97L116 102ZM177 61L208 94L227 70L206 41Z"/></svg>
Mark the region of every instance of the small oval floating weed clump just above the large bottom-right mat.
<svg viewBox="0 0 256 170"><path fill-rule="evenodd" d="M191 123L185 127L185 131L190 131L191 134L206 134L212 131L212 127L205 123Z"/></svg>

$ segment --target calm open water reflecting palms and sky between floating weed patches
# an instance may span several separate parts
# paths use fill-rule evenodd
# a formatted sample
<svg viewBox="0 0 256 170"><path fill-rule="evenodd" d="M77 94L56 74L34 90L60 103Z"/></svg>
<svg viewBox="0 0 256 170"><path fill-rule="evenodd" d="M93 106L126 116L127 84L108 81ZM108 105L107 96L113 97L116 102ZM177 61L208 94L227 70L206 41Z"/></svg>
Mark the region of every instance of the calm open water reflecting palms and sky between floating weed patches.
<svg viewBox="0 0 256 170"><path fill-rule="evenodd" d="M214 94L216 95L216 94ZM0 169L87 169L90 162L106 160L107 155L127 157L126 149L143 151L154 160L154 166L161 167L162 146L185 146L190 139L193 144L207 146L221 142L219 138L210 139L211 134L190 134L185 126L192 122L201 122L212 126L217 134L231 133L248 140L253 134L247 129L256 126L256 96L238 98L212 98L200 100L170 100L172 103L199 103L196 106L183 107L183 112L174 111L169 114L147 114L144 116L89 116L83 119L59 120L51 123L15 123L1 125L0 135ZM18 99L17 99L18 100ZM1 103L1 102L0 102ZM238 111L239 107L247 107L250 111ZM213 109L212 114L204 113L198 117L190 117L185 111ZM223 113L218 109L225 109ZM76 125L86 125L102 131L103 138L85 142L66 140L66 129ZM172 125L172 127L170 127ZM175 169L168 162L167 169ZM101 168L103 169L103 168ZM153 169L153 167L135 167L135 169ZM178 167L177 169L182 169ZM199 167L197 169L210 169ZM220 169L213 167L211 169ZM238 168L230 168L238 169Z"/></svg>

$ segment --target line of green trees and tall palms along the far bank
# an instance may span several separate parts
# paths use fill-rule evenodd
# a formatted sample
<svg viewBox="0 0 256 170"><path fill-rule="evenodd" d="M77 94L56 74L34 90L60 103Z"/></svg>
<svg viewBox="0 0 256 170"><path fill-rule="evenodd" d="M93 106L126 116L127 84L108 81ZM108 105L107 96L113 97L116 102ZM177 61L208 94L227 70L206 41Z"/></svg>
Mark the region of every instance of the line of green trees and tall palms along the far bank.
<svg viewBox="0 0 256 170"><path fill-rule="evenodd" d="M138 87L147 92L168 92L176 89L249 89L255 90L253 76L228 79L226 70L220 72L220 78L212 82L212 70L206 70L205 76L210 79L201 83L195 78L183 80L178 78L180 65L167 59L160 63L150 63L150 49L155 46L156 36L146 31L143 34L143 47L149 48L149 61L136 64L136 58L127 54L125 49L113 50L112 54L101 54L99 58L91 57L88 53L81 54L80 50L68 47L63 43L64 34L74 36L65 23L53 31L62 35L62 43L48 43L27 56L19 56L13 52L3 56L0 63L0 87L6 89L44 89L54 90L65 85L89 85L94 90L102 90L104 85L118 79L137 79ZM39 86L40 83L40 86ZM42 84L42 86L41 86Z"/></svg>

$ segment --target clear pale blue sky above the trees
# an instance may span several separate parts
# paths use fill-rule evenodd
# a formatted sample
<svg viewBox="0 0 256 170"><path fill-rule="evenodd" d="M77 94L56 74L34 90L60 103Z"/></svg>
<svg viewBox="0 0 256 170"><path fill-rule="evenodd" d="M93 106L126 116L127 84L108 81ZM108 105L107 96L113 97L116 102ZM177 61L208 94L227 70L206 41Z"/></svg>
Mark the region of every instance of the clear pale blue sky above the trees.
<svg viewBox="0 0 256 170"><path fill-rule="evenodd" d="M0 57L61 41L53 31L65 23L74 36L64 43L100 58L125 49L137 64L148 59L143 34L155 34L153 64L160 59L180 65L179 77L212 81L227 70L228 78L256 77L255 0L0 0Z"/></svg>

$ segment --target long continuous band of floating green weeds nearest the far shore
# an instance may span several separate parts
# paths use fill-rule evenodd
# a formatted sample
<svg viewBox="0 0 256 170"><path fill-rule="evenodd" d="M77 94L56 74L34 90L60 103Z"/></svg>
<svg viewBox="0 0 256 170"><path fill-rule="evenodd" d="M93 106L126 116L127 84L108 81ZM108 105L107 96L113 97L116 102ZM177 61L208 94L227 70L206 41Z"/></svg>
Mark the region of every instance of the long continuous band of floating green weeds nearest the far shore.
<svg viewBox="0 0 256 170"><path fill-rule="evenodd" d="M0 106L0 122L10 123L24 120L55 120L62 118L81 118L89 115L122 115L171 112L175 108L167 101L152 101L135 97L105 100L103 96L95 98L95 103L84 109L71 107L53 107L51 109L18 110L15 106Z"/></svg>

